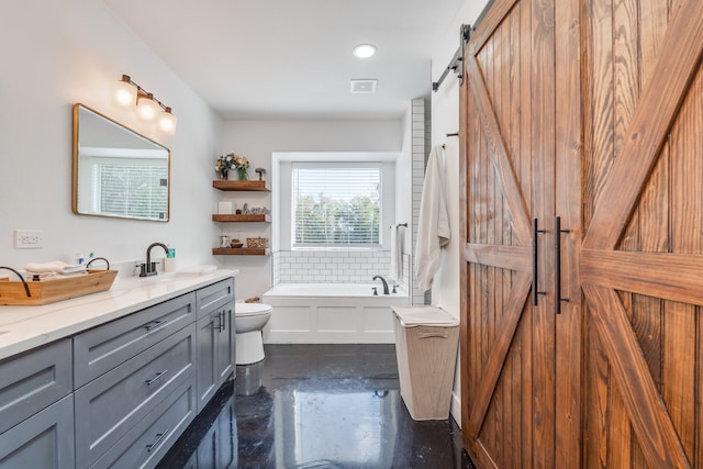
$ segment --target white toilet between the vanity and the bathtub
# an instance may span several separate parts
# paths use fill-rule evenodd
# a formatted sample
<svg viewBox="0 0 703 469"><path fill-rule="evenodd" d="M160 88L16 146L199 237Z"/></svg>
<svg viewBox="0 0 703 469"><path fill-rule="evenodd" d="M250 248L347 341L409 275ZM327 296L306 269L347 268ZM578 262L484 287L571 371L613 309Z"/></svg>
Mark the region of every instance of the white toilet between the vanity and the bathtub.
<svg viewBox="0 0 703 469"><path fill-rule="evenodd" d="M271 306L264 303L235 303L236 364L250 365L264 359L261 331L271 317Z"/></svg>

